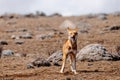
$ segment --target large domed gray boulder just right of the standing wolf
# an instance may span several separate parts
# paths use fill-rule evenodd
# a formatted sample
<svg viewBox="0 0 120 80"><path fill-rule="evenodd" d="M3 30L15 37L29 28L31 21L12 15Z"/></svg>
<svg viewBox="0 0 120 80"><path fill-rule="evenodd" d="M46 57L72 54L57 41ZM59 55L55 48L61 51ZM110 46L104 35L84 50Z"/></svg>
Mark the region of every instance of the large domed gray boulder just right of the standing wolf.
<svg viewBox="0 0 120 80"><path fill-rule="evenodd" d="M90 44L82 48L77 54L78 60L96 61L112 60L113 56L109 54L105 47L100 44Z"/></svg>

